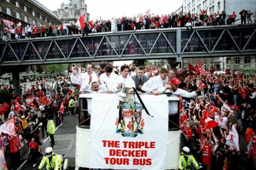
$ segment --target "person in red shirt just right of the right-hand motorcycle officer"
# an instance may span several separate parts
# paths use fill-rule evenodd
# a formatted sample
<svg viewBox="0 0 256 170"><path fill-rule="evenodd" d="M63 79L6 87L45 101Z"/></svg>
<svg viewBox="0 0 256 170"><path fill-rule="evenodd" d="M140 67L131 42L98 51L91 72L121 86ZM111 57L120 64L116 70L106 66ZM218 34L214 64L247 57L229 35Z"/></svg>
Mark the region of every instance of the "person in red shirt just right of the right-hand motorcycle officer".
<svg viewBox="0 0 256 170"><path fill-rule="evenodd" d="M209 140L201 147L202 152L202 164L207 167L207 170L211 169L212 164L212 145L209 143Z"/></svg>

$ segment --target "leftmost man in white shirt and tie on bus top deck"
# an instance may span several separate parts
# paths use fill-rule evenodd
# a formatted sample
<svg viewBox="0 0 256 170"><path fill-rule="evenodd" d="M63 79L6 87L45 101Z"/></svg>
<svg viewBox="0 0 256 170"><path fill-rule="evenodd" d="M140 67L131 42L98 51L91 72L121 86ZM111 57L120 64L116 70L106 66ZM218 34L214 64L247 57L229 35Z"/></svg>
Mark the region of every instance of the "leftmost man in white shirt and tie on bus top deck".
<svg viewBox="0 0 256 170"><path fill-rule="evenodd" d="M81 85L80 91L90 91L90 83L98 80L98 76L93 72L93 65L87 64L86 72L77 76L75 73L70 75L70 80L73 84Z"/></svg>

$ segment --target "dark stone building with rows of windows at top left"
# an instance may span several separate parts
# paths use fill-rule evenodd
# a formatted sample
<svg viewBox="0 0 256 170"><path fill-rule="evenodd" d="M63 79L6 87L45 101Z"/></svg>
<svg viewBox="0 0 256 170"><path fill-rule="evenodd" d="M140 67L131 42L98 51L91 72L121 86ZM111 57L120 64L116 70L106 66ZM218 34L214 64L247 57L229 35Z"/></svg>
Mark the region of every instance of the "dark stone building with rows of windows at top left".
<svg viewBox="0 0 256 170"><path fill-rule="evenodd" d="M0 3L0 30L6 28L1 19L10 20L16 27L20 22L22 28L27 24L51 25L61 24L61 20L48 8L37 0L1 0Z"/></svg>

